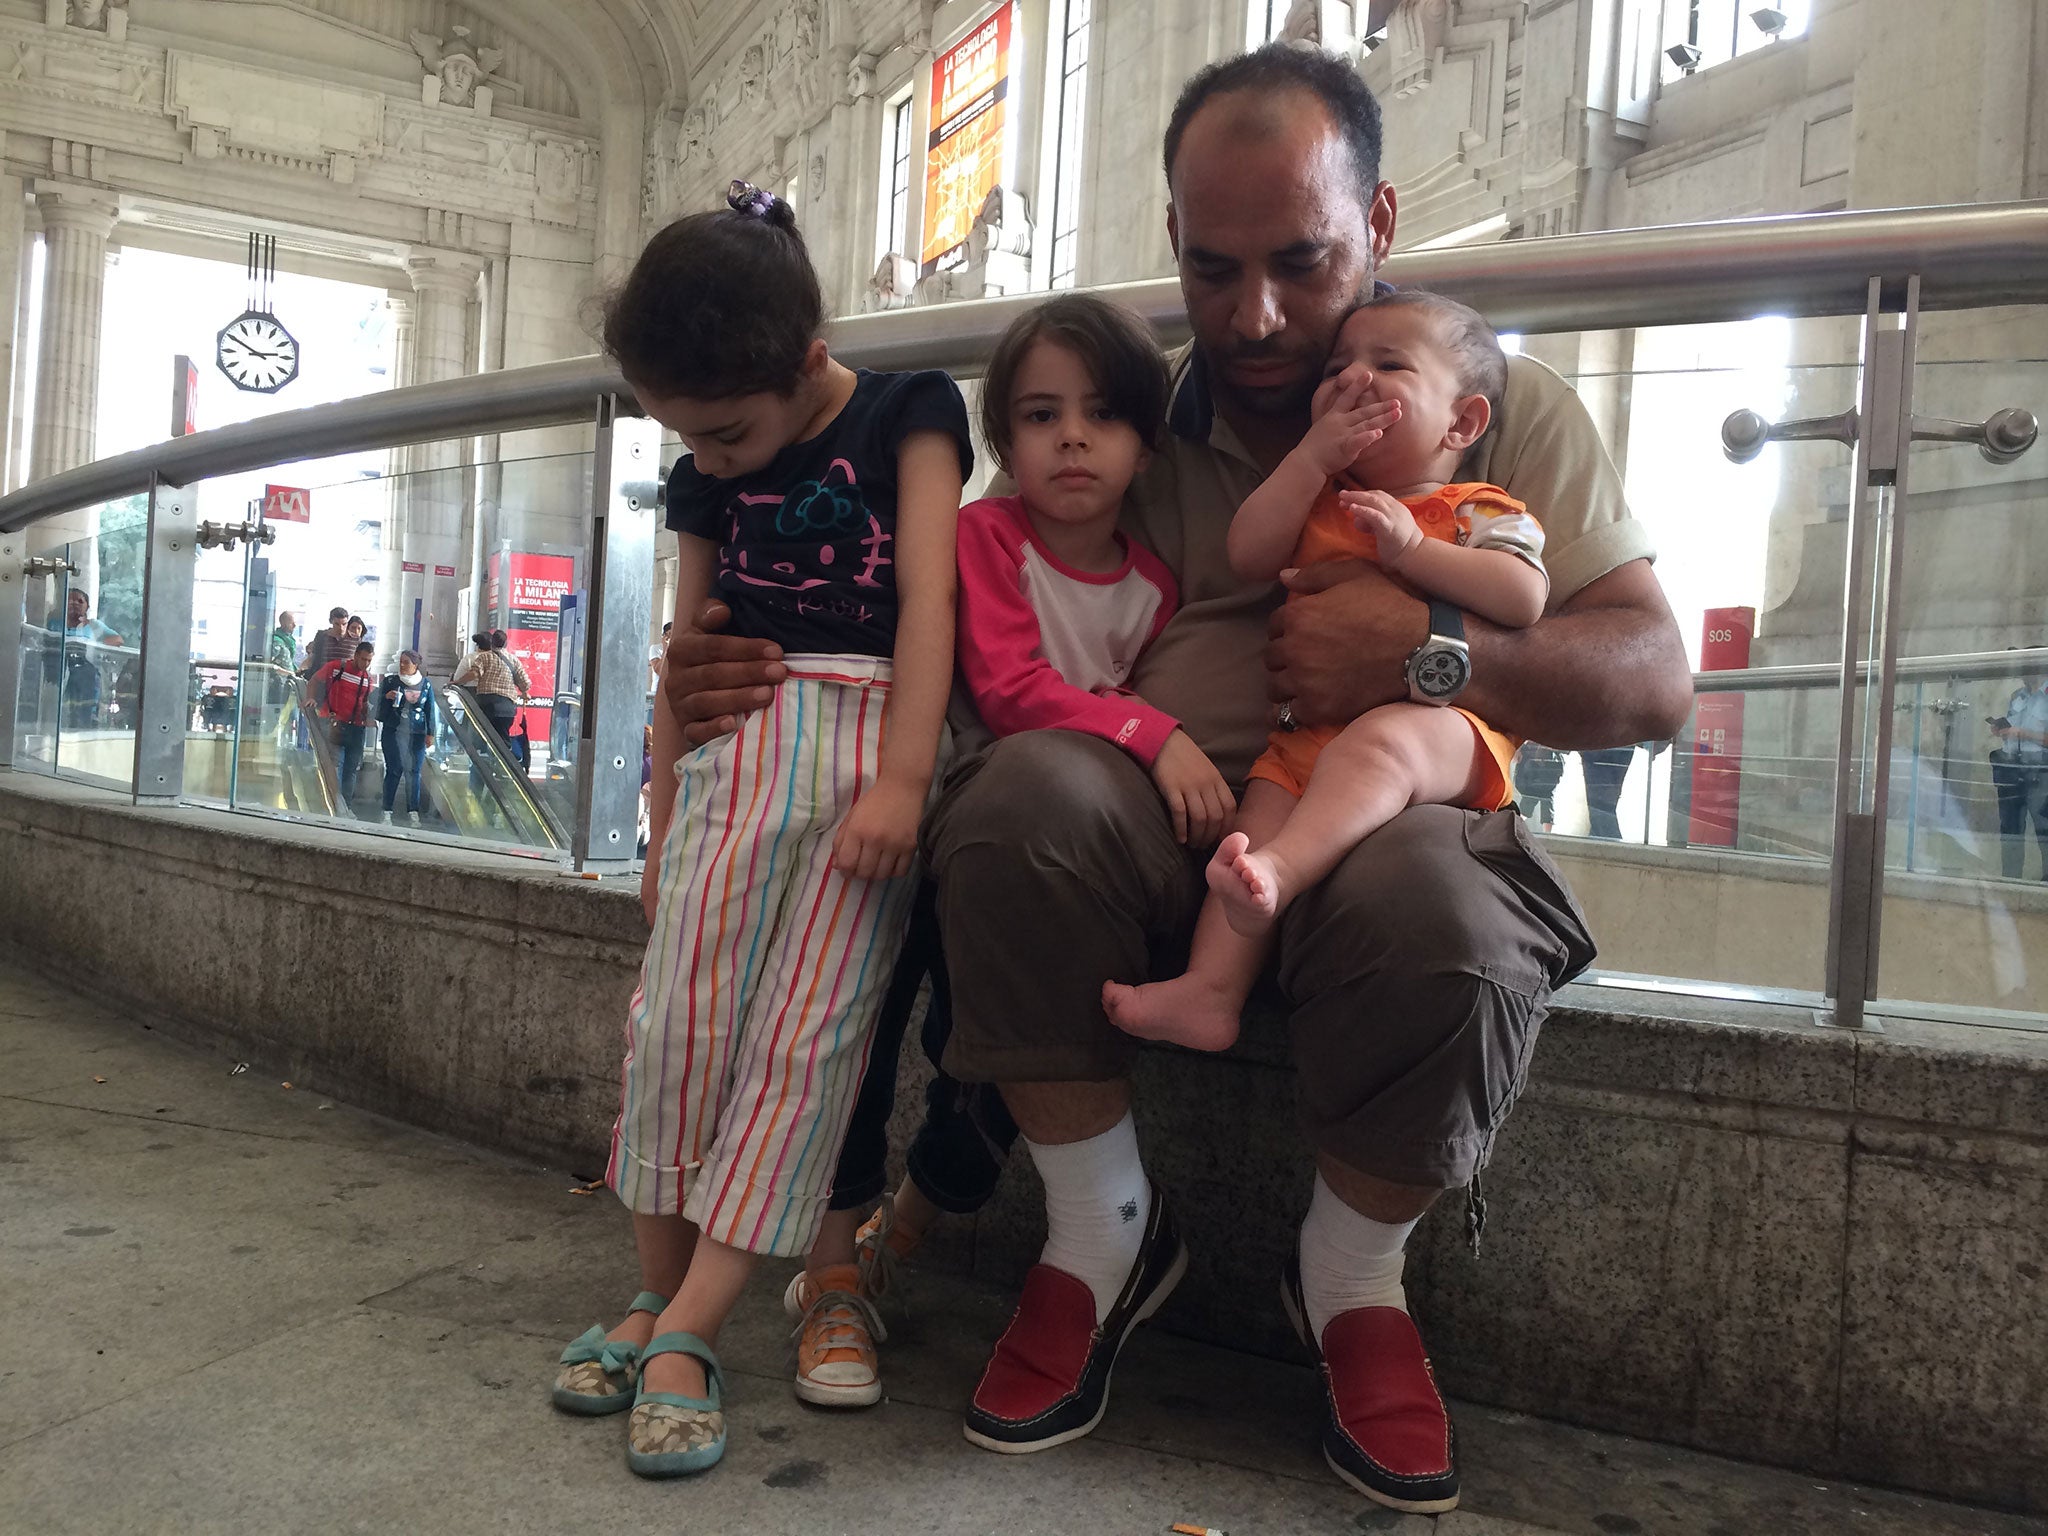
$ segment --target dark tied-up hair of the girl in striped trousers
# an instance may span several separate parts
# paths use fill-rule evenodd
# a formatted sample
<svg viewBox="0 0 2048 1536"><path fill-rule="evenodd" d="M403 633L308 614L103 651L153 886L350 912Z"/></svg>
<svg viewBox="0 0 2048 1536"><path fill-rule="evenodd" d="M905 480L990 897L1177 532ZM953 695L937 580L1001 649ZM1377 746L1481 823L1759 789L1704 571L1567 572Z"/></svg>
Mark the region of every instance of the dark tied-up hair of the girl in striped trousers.
<svg viewBox="0 0 2048 1536"><path fill-rule="evenodd" d="M797 213L745 182L727 203L662 229L604 305L604 350L637 389L731 399L797 387L825 328Z"/></svg>

